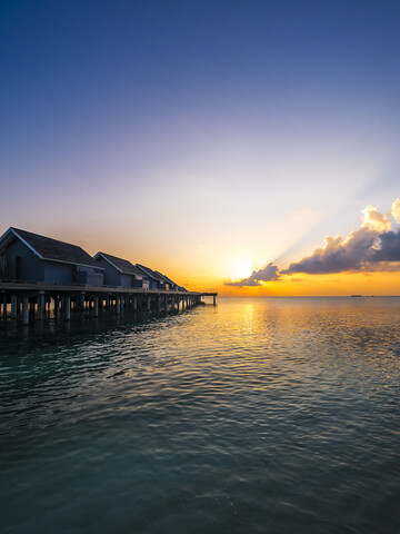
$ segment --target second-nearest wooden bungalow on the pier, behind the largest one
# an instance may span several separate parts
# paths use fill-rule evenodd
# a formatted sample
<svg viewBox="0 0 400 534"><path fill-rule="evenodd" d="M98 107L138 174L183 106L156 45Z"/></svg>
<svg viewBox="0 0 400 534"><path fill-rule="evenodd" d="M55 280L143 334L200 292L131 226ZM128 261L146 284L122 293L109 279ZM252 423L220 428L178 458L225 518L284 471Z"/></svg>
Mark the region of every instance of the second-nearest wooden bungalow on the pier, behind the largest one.
<svg viewBox="0 0 400 534"><path fill-rule="evenodd" d="M104 284L107 286L150 288L149 277L128 259L106 253L97 253L94 259L104 269Z"/></svg>

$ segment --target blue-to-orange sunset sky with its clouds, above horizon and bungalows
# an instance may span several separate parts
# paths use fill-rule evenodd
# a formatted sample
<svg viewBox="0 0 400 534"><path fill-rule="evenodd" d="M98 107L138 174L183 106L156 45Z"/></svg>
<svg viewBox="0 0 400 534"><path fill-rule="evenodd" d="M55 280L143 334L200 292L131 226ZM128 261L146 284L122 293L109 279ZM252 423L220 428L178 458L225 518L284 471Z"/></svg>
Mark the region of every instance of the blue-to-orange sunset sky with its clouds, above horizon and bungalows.
<svg viewBox="0 0 400 534"><path fill-rule="evenodd" d="M398 1L0 0L0 233L220 295L400 294L399 28Z"/></svg>

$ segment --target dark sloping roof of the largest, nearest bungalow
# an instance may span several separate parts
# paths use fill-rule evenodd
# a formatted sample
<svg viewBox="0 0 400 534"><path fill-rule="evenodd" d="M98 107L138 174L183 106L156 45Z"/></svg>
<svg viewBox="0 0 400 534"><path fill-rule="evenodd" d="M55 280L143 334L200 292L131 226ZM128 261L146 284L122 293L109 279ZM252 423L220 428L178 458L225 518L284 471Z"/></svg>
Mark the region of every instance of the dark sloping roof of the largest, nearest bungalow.
<svg viewBox="0 0 400 534"><path fill-rule="evenodd" d="M86 253L83 248L78 247L77 245L51 239L50 237L39 236L38 234L20 230L19 228L11 227L9 231L24 241L24 244L42 259L99 267L94 259Z"/></svg>

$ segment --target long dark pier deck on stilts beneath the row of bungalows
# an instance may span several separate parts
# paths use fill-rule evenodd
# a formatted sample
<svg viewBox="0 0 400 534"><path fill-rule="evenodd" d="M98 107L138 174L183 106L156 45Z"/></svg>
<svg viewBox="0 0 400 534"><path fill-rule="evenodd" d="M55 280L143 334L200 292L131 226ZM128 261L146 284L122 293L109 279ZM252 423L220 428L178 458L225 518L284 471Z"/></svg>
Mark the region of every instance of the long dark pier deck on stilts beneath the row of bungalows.
<svg viewBox="0 0 400 534"><path fill-rule="evenodd" d="M50 308L60 312L66 320L71 312L90 310L92 317L99 309L113 309L120 315L124 308L134 312L179 312L202 304L202 297L217 293L124 288L120 286L82 286L49 284L44 281L0 280L0 316L18 319L28 325L31 319L42 319Z"/></svg>

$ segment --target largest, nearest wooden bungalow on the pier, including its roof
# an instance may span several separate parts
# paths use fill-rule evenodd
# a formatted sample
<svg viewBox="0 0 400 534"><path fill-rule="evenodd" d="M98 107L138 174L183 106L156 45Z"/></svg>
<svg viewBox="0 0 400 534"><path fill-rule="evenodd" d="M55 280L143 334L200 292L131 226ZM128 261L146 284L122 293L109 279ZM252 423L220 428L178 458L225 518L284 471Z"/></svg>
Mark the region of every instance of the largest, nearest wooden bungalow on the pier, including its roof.
<svg viewBox="0 0 400 534"><path fill-rule="evenodd" d="M11 227L0 237L0 278L101 286L103 269L77 245Z"/></svg>

